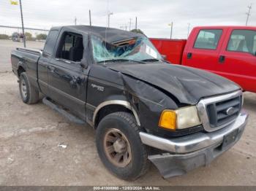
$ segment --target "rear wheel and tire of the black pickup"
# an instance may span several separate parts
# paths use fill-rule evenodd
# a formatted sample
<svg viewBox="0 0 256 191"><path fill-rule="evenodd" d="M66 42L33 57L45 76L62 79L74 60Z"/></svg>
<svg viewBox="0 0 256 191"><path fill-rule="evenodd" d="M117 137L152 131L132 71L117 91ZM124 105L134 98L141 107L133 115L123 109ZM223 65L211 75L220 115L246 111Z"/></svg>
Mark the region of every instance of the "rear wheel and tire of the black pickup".
<svg viewBox="0 0 256 191"><path fill-rule="evenodd" d="M19 89L21 99L25 104L36 104L39 101L39 92L36 87L31 86L26 72L20 74Z"/></svg>

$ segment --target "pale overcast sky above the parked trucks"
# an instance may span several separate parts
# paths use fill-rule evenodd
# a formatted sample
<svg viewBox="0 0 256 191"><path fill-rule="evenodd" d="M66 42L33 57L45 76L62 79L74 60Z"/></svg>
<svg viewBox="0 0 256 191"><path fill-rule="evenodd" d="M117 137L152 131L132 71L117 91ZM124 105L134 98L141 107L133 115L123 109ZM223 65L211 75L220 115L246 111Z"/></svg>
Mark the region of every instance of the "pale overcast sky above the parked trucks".
<svg viewBox="0 0 256 191"><path fill-rule="evenodd" d="M108 11L110 26L127 26L138 17L138 28L147 36L168 38L173 21L173 37L187 38L188 23L193 26L239 25L246 22L247 6L252 3L249 26L256 26L256 0L22 0L26 27L45 28L51 26L89 24L91 9L92 24L106 26ZM21 26L19 6L10 0L0 0L0 25ZM8 30L0 28L0 33Z"/></svg>

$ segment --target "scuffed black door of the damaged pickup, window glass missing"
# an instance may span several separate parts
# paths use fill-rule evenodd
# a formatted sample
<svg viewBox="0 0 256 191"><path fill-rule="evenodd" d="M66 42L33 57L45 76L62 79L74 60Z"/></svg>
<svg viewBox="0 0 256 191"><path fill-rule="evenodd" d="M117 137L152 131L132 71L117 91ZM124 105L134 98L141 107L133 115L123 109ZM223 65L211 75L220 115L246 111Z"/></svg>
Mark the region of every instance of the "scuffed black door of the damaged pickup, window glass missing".
<svg viewBox="0 0 256 191"><path fill-rule="evenodd" d="M85 61L87 36L62 31L59 35L56 55L48 66L50 98L83 120L86 120L86 85L89 69Z"/></svg>

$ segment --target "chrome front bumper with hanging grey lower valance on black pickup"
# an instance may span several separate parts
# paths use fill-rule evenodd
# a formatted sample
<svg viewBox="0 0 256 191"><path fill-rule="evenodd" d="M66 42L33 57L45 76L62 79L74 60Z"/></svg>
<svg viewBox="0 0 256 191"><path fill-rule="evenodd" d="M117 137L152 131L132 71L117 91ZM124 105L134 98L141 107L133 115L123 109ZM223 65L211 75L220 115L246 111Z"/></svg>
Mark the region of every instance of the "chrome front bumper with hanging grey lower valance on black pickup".
<svg viewBox="0 0 256 191"><path fill-rule="evenodd" d="M140 132L143 144L166 151L162 155L150 155L148 159L164 178L186 174L194 168L208 165L214 158L230 149L241 138L248 114L241 112L237 119L225 128L211 133L194 133L175 139L163 139ZM222 147L225 136L237 131L234 141Z"/></svg>

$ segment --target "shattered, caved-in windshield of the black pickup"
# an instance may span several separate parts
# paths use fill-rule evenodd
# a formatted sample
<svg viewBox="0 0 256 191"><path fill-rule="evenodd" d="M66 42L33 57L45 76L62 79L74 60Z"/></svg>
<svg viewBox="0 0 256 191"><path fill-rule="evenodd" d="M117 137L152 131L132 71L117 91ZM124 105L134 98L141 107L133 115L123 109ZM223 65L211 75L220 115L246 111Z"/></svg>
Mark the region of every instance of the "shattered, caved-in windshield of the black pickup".
<svg viewBox="0 0 256 191"><path fill-rule="evenodd" d="M146 36L139 36L121 42L108 43L97 36L91 36L94 60L159 61L162 56Z"/></svg>

